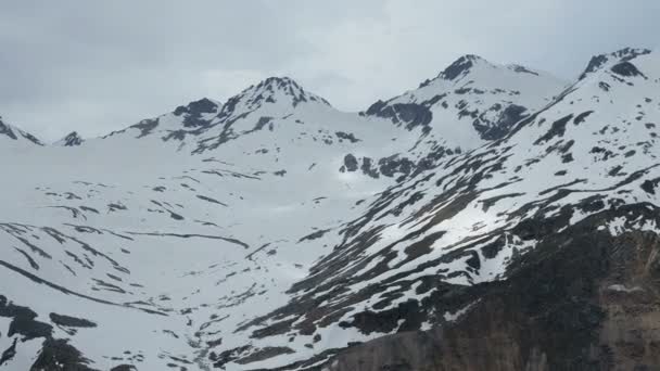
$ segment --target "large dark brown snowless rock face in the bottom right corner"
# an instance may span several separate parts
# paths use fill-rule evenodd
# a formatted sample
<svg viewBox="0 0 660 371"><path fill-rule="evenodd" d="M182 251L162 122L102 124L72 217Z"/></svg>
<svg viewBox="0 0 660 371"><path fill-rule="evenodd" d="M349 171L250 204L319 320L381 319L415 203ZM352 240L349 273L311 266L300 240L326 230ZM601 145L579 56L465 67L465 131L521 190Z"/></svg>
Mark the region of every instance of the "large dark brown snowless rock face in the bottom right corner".
<svg viewBox="0 0 660 371"><path fill-rule="evenodd" d="M454 289L470 303L456 322L402 331L351 347L326 367L344 370L656 370L660 364L660 238L598 228L645 205L596 214L561 233L530 221L534 252L507 281ZM531 234L530 234L531 233ZM543 233L541 235L536 233ZM462 297L462 298L461 298ZM401 312L403 314L403 312ZM399 314L399 316L401 316Z"/></svg>

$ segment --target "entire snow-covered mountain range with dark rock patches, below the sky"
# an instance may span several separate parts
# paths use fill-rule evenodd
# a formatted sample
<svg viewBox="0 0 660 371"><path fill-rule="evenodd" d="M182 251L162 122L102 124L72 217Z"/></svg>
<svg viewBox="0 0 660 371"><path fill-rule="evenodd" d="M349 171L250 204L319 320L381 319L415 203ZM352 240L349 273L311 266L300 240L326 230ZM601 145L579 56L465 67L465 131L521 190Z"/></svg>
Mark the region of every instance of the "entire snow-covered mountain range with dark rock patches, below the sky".
<svg viewBox="0 0 660 371"><path fill-rule="evenodd" d="M0 370L658 367L658 66L467 55L359 114L269 78L0 140Z"/></svg>

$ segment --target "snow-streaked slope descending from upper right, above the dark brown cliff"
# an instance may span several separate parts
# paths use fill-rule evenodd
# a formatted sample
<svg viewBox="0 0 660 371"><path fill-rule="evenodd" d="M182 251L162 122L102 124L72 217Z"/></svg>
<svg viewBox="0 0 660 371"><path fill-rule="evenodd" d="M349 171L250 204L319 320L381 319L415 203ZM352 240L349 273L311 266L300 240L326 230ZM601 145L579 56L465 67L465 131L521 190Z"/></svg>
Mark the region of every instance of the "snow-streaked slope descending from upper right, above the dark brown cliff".
<svg viewBox="0 0 660 371"><path fill-rule="evenodd" d="M521 255L599 212L638 205L630 219L597 227L656 233L657 62L657 54L614 61L502 140L381 193L318 242L338 244L292 287L287 306L245 327L250 342L284 345L268 334L290 327L288 336L338 348L346 338L443 324L471 304L436 302L443 286L505 280ZM621 74L621 63L637 73Z"/></svg>

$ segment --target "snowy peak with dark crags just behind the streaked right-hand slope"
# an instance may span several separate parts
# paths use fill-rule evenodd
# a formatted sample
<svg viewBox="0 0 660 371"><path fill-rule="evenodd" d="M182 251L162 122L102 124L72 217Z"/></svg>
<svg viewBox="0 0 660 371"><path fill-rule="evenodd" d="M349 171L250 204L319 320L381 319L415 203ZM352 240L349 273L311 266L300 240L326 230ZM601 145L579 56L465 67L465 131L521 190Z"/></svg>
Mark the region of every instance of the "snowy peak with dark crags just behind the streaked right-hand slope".
<svg viewBox="0 0 660 371"><path fill-rule="evenodd" d="M467 150L502 138L568 84L521 65L467 54L418 89L378 101L363 115L389 118L410 130L421 128L437 143ZM466 125L457 126L458 121Z"/></svg>

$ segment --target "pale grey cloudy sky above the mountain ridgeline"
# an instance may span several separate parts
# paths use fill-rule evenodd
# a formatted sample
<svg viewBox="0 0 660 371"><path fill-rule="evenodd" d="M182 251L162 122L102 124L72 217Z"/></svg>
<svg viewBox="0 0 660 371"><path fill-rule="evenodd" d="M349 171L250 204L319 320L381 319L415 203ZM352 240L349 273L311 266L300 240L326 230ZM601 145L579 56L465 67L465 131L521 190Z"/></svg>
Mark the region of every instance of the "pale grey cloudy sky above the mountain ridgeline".
<svg viewBox="0 0 660 371"><path fill-rule="evenodd" d="M658 49L659 18L658 0L2 1L0 115L99 136L274 75L360 111L466 53L572 78Z"/></svg>

